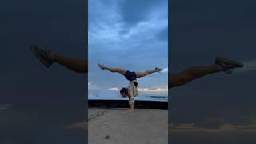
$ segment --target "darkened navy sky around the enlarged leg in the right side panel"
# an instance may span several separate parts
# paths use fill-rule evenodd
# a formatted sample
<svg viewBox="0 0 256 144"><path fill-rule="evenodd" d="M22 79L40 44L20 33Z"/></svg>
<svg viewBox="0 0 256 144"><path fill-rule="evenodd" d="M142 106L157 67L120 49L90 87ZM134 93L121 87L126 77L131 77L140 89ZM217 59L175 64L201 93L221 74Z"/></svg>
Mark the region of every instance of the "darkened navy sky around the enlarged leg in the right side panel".
<svg viewBox="0 0 256 144"><path fill-rule="evenodd" d="M234 74L208 75L170 90L171 143L255 143L256 2L180 0L170 3L170 70L241 61Z"/></svg>

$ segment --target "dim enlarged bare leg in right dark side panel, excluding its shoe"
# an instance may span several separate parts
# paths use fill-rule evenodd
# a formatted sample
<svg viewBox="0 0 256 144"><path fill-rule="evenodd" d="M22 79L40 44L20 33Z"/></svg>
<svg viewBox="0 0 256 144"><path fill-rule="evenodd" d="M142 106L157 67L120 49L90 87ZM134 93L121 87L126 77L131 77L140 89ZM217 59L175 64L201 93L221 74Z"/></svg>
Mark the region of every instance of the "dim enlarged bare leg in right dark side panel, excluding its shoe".
<svg viewBox="0 0 256 144"><path fill-rule="evenodd" d="M213 74L218 72L217 65L211 66L194 66L186 69L178 74L169 73L169 81L168 81L168 88L174 86L182 86L187 82L191 82L194 79L201 78L206 76L207 74Z"/></svg>

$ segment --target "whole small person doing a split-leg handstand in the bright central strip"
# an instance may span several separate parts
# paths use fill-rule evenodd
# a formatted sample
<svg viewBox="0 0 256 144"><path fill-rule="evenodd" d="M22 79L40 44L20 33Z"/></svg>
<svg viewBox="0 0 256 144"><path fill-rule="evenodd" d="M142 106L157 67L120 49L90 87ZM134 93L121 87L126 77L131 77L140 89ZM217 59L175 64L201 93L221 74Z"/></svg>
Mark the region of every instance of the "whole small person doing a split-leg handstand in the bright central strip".
<svg viewBox="0 0 256 144"><path fill-rule="evenodd" d="M138 95L137 78L142 78L147 76L148 74L153 74L155 72L160 72L163 70L161 68L156 67L154 70L146 70L145 72L134 72L134 71L130 72L129 70L124 70L121 68L112 68L108 66L103 66L102 64L98 64L98 66L102 70L109 70L110 72L113 72L113 73L122 74L128 81L130 81L129 86L127 88L123 87L120 90L120 94L122 95L122 97L129 98L129 105L131 110L134 109L134 97Z"/></svg>

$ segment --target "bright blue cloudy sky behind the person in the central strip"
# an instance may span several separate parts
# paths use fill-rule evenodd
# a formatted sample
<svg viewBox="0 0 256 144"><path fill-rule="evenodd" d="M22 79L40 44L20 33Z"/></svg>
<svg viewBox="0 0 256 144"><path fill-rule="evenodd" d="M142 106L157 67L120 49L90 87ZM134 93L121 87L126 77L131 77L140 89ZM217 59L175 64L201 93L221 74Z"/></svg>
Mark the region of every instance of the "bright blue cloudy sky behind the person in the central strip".
<svg viewBox="0 0 256 144"><path fill-rule="evenodd" d="M98 68L130 71L164 68L138 79L138 97L168 94L168 1L89 0L89 98L118 99L129 82ZM146 98L146 97L145 97Z"/></svg>

